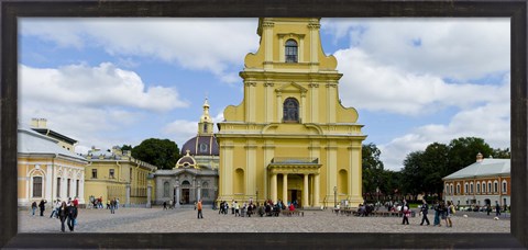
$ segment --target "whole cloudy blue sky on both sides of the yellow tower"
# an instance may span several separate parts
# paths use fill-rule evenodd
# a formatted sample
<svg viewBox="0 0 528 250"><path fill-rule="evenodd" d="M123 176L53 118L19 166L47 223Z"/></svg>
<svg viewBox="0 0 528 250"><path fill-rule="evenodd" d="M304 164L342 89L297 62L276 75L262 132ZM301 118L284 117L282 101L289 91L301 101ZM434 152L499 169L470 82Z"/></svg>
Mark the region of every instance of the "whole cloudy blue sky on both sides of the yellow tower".
<svg viewBox="0 0 528 250"><path fill-rule="evenodd" d="M21 19L19 122L47 118L78 152L196 135L243 98L257 19ZM410 151L461 136L509 147L508 19L321 19L339 91L399 170Z"/></svg>

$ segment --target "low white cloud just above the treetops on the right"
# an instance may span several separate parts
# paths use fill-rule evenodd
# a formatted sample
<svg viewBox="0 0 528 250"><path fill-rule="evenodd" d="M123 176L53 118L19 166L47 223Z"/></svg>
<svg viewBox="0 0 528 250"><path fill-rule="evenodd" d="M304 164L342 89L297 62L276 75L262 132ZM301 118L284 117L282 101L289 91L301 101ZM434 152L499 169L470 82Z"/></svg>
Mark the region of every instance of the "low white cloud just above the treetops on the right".
<svg viewBox="0 0 528 250"><path fill-rule="evenodd" d="M496 101L462 110L447 125L419 126L388 144L380 145L382 161L387 169L399 170L409 152L425 150L432 143L449 144L459 137L480 137L493 148L510 148L509 89L508 75L494 92Z"/></svg>

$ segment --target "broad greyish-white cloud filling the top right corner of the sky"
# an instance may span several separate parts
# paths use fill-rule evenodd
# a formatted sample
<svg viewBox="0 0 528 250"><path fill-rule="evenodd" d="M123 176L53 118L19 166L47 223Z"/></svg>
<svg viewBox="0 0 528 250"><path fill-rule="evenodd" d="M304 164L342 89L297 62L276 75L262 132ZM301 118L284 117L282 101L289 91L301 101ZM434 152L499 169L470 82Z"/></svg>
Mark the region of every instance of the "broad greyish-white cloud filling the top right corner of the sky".
<svg viewBox="0 0 528 250"><path fill-rule="evenodd" d="M465 81L509 71L509 19L330 19L323 29L336 39L348 31L351 45L406 72Z"/></svg>

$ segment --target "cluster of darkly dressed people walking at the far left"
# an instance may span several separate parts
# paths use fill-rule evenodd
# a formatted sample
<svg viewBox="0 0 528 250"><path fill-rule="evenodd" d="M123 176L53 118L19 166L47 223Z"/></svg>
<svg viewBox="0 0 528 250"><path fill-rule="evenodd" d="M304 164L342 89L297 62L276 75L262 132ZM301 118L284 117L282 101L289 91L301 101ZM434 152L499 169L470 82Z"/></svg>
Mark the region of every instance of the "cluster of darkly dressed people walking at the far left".
<svg viewBox="0 0 528 250"><path fill-rule="evenodd" d="M38 206L41 209L41 216L44 216L44 211L46 209L46 200L41 200L38 205L36 202L31 204L32 215L35 215L36 207ZM78 205L79 201L77 197L75 200L68 198L68 201L61 201L56 200L55 205L52 209L52 214L50 218L58 218L61 220L61 231L65 232L66 225L68 226L69 231L74 231L75 225L77 224L77 215L78 215Z"/></svg>

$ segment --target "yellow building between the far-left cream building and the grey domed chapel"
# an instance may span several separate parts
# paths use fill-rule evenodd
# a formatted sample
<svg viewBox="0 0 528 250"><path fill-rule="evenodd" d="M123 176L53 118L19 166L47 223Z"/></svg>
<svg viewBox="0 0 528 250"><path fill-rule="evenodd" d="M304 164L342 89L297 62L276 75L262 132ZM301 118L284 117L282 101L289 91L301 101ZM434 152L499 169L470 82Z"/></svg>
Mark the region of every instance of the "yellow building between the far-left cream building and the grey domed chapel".
<svg viewBox="0 0 528 250"><path fill-rule="evenodd" d="M109 198L119 198L120 205L150 206L155 198L150 196L153 189L150 175L157 169L155 166L132 158L130 151L119 147L111 150L92 147L85 157L86 201L102 197L106 204Z"/></svg>

